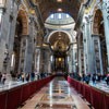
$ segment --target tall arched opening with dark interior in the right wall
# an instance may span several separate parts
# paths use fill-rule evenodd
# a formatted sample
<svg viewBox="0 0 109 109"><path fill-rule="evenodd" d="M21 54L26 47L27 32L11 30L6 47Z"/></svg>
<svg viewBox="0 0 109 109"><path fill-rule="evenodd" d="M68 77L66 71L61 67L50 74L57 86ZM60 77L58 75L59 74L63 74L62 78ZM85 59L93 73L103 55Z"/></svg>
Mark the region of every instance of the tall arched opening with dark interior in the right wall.
<svg viewBox="0 0 109 109"><path fill-rule="evenodd" d="M95 35L98 35L99 40L99 48L100 48L100 55L101 55L101 65L102 65L102 72L107 73L107 48L106 48L106 37L105 37L105 28L104 28L104 17L100 10L97 10L95 12L94 17L94 27L93 32Z"/></svg>

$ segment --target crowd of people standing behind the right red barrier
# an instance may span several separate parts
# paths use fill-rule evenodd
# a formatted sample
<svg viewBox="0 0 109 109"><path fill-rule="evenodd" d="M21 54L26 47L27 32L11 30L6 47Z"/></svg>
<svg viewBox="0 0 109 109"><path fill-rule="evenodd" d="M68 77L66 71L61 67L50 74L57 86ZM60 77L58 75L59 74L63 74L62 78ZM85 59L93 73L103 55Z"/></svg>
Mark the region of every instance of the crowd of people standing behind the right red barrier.
<svg viewBox="0 0 109 109"><path fill-rule="evenodd" d="M70 74L71 77L76 78L77 81L83 81L86 84L89 84L89 82L93 82L93 85L96 85L96 83L99 83L101 81L105 81L107 85L109 85L109 74L82 74L80 75L78 73L72 73Z"/></svg>

